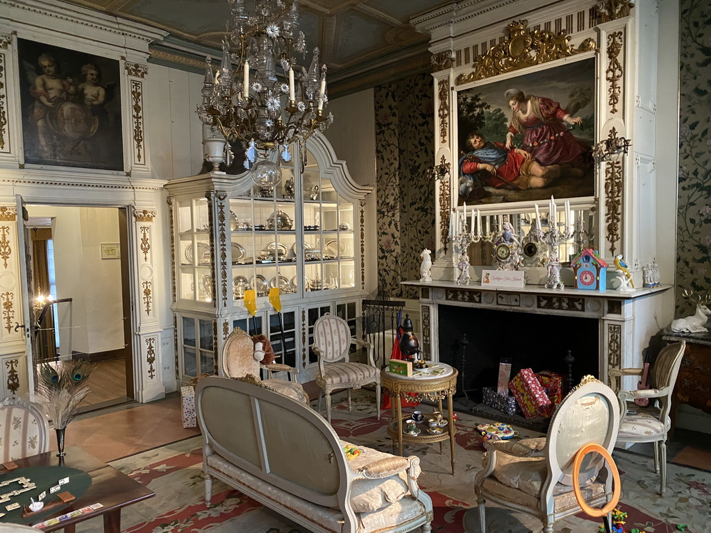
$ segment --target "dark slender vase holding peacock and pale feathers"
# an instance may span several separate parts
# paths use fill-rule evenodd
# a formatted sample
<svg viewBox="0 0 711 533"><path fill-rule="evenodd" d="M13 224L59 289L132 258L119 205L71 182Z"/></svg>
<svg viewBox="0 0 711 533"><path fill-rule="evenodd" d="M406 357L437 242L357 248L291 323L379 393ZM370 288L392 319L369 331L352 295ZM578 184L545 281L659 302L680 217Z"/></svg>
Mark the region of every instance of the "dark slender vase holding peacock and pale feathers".
<svg viewBox="0 0 711 533"><path fill-rule="evenodd" d="M96 365L87 361L44 362L37 371L37 390L57 432L58 457L65 456L64 433L89 394L87 379Z"/></svg>

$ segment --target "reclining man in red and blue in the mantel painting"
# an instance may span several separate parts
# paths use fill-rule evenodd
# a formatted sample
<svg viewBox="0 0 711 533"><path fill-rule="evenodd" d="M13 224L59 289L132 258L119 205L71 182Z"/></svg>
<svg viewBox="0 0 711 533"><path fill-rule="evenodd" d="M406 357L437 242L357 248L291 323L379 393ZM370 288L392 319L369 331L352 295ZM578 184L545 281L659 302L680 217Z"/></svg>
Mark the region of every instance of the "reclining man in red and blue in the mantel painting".
<svg viewBox="0 0 711 533"><path fill-rule="evenodd" d="M469 134L466 144L472 151L460 160L461 174L484 171L486 183L493 187L542 188L560 176L560 165L542 166L527 151L507 149L499 142L486 141L479 133Z"/></svg>

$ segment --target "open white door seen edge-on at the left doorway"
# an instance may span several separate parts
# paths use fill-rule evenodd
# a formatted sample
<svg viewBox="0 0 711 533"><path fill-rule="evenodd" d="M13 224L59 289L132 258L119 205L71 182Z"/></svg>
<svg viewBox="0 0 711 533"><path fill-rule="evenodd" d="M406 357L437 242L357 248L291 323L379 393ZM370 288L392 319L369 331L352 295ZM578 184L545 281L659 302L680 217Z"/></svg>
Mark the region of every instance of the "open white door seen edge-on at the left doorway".
<svg viewBox="0 0 711 533"><path fill-rule="evenodd" d="M21 195L16 195L17 202L17 245L20 250L20 282L23 291L22 318L23 324L16 328L23 328L25 335L25 350L27 353L27 381L30 399L35 394L35 313L32 309L32 261L29 247L29 230L26 222L29 218L24 200Z"/></svg>

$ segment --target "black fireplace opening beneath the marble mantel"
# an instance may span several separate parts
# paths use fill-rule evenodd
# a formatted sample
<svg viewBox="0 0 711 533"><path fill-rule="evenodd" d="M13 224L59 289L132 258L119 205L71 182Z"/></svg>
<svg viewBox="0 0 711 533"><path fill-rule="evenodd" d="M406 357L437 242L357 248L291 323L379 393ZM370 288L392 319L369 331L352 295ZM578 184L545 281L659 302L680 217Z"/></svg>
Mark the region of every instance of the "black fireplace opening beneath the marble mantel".
<svg viewBox="0 0 711 533"><path fill-rule="evenodd" d="M463 355L464 333L469 344ZM438 338L439 360L459 370L457 396L466 391L473 402L481 402L482 387L496 388L503 357L510 359L511 378L522 368L567 377L570 350L573 385L587 374L599 377L597 318L439 306Z"/></svg>

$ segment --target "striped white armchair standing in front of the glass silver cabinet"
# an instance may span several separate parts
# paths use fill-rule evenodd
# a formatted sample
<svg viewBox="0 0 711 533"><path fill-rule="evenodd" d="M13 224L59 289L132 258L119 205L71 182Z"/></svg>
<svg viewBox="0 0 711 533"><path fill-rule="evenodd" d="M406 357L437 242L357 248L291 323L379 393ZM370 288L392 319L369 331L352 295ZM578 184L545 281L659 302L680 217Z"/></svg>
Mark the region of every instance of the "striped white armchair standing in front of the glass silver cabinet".
<svg viewBox="0 0 711 533"><path fill-rule="evenodd" d="M363 347L368 352L368 364L349 362L351 345ZM331 424L331 392L348 389L348 411L351 410L351 389L360 389L363 385L375 383L375 403L380 420L380 370L373 360L373 346L365 340L353 338L348 322L343 318L326 313L314 324L314 344L311 349L319 357L319 372L316 384L319 385L319 406L321 396L326 394L326 418ZM340 362L346 359L345 362Z"/></svg>

